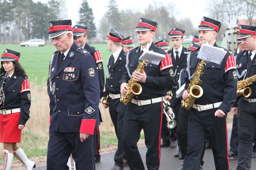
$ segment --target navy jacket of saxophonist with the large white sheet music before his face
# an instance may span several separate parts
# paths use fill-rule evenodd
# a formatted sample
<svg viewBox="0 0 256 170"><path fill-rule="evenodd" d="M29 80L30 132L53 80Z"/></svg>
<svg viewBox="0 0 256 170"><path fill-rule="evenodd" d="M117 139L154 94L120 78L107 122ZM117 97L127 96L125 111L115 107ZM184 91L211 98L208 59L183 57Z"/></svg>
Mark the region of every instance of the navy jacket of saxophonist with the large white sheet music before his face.
<svg viewBox="0 0 256 170"><path fill-rule="evenodd" d="M218 47L216 43L213 46ZM188 68L190 76L193 75L197 68L197 54L199 50L200 48L190 54L190 68ZM230 111L237 96L236 64L233 54L229 53L228 50L226 51L227 53L221 64L209 62L204 66L203 76L200 76L202 84L199 85L203 89L203 95L195 100L195 104L200 105L222 102L218 109L222 110L225 114ZM187 89L190 83L187 78L185 78L185 89Z"/></svg>

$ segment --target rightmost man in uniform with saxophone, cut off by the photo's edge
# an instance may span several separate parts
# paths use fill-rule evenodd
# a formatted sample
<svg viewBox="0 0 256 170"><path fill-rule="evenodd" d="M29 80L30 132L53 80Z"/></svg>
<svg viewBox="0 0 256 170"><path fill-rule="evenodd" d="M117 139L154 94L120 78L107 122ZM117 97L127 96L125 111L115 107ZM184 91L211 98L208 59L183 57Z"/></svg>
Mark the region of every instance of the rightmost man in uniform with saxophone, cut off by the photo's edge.
<svg viewBox="0 0 256 170"><path fill-rule="evenodd" d="M237 54L237 77L238 80L247 79L247 86L251 88L251 95L248 98L237 97L237 102L232 112L237 114L238 119L238 166L237 169L251 169L251 158L253 151L253 140L256 125L256 27L240 25L238 39L241 39L245 51ZM249 81L249 79L251 81Z"/></svg>

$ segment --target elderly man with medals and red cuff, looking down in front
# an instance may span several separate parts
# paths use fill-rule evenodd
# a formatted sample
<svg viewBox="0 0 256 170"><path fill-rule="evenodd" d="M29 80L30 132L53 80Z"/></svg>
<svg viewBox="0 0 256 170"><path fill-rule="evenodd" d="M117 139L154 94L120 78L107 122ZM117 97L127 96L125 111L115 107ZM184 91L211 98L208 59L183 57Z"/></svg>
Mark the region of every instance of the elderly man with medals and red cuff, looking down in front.
<svg viewBox="0 0 256 170"><path fill-rule="evenodd" d="M95 169L93 138L100 124L100 89L94 57L73 41L71 20L49 21L57 51L49 66L50 127L47 169Z"/></svg>

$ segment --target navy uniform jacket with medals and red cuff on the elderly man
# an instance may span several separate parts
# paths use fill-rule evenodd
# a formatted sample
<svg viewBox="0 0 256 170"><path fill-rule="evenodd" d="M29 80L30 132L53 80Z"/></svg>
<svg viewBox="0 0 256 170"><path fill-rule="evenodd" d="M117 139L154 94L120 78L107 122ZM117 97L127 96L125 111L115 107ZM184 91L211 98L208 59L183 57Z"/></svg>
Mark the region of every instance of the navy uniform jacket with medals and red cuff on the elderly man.
<svg viewBox="0 0 256 170"><path fill-rule="evenodd" d="M94 134L100 124L100 89L94 57L73 42L58 70L59 58L60 52L55 52L49 69L50 128L56 132Z"/></svg>

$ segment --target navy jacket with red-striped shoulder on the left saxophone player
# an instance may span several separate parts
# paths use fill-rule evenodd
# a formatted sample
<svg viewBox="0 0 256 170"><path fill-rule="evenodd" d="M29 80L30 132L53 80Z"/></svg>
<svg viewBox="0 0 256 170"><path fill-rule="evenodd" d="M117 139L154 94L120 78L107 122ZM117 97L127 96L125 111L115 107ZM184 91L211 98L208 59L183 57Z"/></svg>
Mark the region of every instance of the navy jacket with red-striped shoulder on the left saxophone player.
<svg viewBox="0 0 256 170"><path fill-rule="evenodd" d="M129 58L128 68L131 75L139 65L140 48L141 46L134 48L127 54ZM166 88L171 88L174 84L170 55L162 48L157 47L154 43L151 44L149 51L165 54L166 57L158 65L149 63L144 67L147 78L145 83L137 82L141 85L142 92L140 95L136 95L136 100L148 100L166 96ZM120 84L128 83L129 80L130 77L127 71L125 71L122 80L120 80Z"/></svg>

